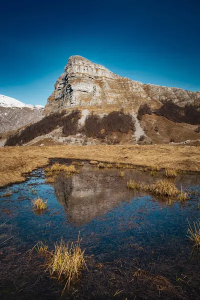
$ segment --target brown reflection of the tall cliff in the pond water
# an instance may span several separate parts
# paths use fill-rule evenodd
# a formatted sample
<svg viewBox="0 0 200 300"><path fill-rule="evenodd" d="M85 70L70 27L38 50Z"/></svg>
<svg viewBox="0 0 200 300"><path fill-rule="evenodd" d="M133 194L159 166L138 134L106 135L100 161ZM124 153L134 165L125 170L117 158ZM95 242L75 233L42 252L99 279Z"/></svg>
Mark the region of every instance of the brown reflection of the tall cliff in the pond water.
<svg viewBox="0 0 200 300"><path fill-rule="evenodd" d="M69 221L80 225L132 199L126 181L120 179L116 173L87 170L70 178L59 176L53 185Z"/></svg>

